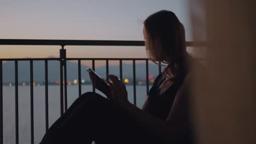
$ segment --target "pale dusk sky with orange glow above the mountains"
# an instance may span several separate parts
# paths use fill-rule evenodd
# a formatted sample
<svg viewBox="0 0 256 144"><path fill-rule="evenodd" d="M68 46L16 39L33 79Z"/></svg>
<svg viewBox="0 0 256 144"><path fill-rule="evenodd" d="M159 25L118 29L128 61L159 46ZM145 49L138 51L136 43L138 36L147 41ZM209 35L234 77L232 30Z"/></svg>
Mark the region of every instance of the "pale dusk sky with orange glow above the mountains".
<svg viewBox="0 0 256 144"><path fill-rule="evenodd" d="M171 10L191 41L188 0L0 0L0 39L144 40L143 20ZM144 47L66 46L67 57L145 58ZM0 58L58 57L60 46L0 46Z"/></svg>

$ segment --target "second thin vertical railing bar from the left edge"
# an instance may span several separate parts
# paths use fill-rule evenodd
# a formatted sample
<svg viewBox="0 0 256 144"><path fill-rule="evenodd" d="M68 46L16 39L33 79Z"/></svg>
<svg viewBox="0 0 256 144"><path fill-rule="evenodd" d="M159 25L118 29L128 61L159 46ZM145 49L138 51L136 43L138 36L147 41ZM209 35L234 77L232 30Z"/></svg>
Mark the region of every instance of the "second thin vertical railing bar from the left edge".
<svg viewBox="0 0 256 144"><path fill-rule="evenodd" d="M15 143L19 144L18 61L15 61Z"/></svg>

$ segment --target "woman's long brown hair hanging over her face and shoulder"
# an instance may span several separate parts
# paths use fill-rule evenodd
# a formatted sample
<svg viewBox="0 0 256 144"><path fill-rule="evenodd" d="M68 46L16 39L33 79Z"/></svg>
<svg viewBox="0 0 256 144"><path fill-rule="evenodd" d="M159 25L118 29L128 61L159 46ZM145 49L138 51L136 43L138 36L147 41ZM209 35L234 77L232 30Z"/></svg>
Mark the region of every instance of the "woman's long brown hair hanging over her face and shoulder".
<svg viewBox="0 0 256 144"><path fill-rule="evenodd" d="M144 28L149 59L167 64L162 71L166 80L160 86L165 91L171 77L185 74L188 67L184 26L172 11L161 10L144 21Z"/></svg>

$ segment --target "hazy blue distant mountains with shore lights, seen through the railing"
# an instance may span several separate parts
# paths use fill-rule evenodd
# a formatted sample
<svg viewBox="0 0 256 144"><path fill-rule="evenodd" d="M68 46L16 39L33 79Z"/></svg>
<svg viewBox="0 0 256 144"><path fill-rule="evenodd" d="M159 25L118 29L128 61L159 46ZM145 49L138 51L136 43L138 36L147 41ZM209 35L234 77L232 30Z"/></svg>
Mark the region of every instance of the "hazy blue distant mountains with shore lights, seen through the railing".
<svg viewBox="0 0 256 144"><path fill-rule="evenodd" d="M82 79L89 80L89 75L85 69L88 68L87 65L81 66ZM33 79L36 82L44 82L44 61L34 61L33 62ZM96 73L102 78L106 78L106 66L96 67ZM158 75L158 65L149 64L149 75ZM18 79L19 82L30 81L30 62L19 61L18 62ZM119 65L109 65L109 74L114 74L119 76ZM132 64L123 63L123 79L132 79ZM78 79L78 63L67 61L67 80L73 81ZM136 64L136 79L145 80L146 79L146 64L137 63ZM48 80L49 82L60 80L60 62L59 61L48 61ZM15 71L14 62L3 63L3 82L14 82L15 81Z"/></svg>

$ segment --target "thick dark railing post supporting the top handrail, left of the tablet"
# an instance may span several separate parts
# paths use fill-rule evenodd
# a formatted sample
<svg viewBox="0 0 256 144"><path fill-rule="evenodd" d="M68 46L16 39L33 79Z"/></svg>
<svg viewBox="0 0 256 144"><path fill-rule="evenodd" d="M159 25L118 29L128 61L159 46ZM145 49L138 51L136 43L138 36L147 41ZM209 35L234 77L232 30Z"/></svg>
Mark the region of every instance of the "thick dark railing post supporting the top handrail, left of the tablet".
<svg viewBox="0 0 256 144"><path fill-rule="evenodd" d="M65 64L66 63L66 50L64 49L64 46L65 45L61 45L61 49L60 49L60 109L61 109L60 111L61 111L61 116L63 115L63 67L66 66L66 64ZM65 90L65 92L66 92L66 90ZM66 95L66 93L65 93L65 95Z"/></svg>

